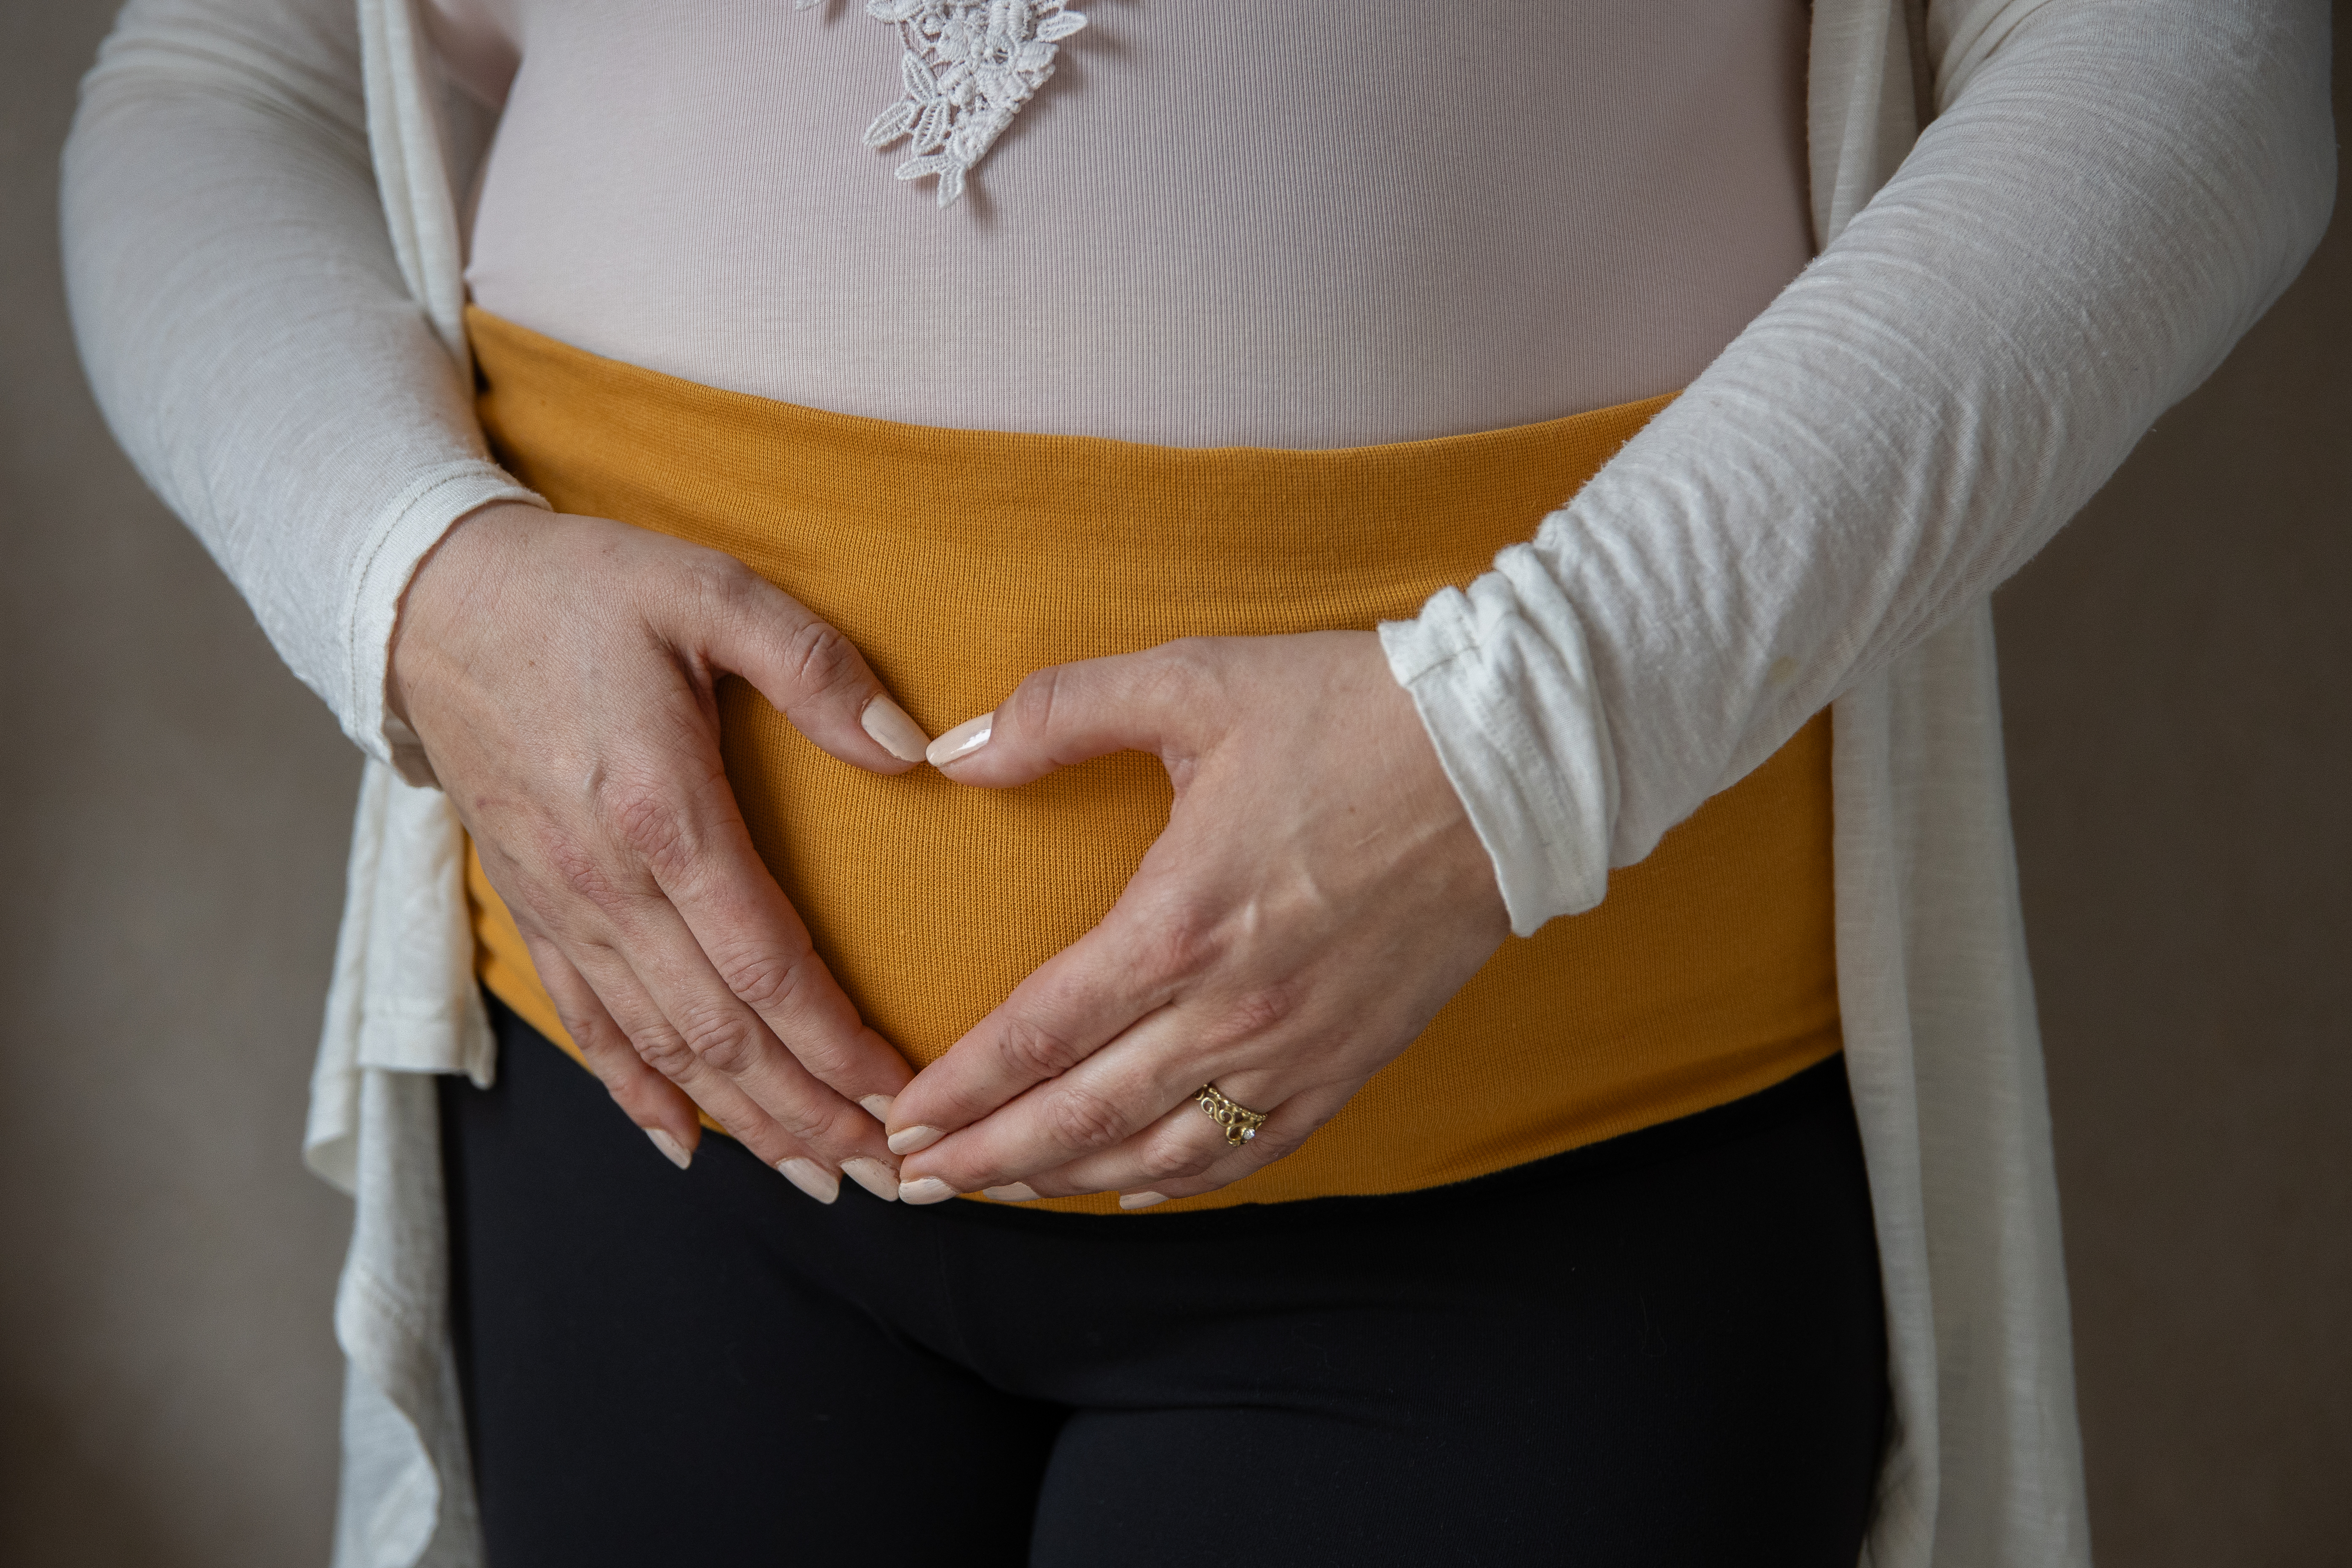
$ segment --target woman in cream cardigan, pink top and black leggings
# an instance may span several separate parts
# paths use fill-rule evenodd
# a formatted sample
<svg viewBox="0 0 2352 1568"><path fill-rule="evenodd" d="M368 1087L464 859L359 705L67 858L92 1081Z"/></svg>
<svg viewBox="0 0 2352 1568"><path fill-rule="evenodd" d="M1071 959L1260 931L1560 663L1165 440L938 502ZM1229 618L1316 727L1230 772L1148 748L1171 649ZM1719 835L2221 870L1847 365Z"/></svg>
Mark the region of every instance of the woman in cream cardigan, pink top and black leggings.
<svg viewBox="0 0 2352 1568"><path fill-rule="evenodd" d="M2324 61L136 0L92 378L372 757L336 1561L2086 1561L1987 595Z"/></svg>

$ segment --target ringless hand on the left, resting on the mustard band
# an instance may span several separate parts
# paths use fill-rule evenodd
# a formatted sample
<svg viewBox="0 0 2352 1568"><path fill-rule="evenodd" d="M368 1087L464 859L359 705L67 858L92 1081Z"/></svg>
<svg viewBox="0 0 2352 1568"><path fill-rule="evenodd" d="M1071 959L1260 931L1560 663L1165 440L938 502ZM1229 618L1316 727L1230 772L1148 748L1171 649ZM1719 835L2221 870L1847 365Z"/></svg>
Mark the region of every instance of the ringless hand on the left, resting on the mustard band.
<svg viewBox="0 0 2352 1568"><path fill-rule="evenodd" d="M924 733L835 628L741 562L522 503L459 522L409 583L388 701L506 898L564 1030L677 1164L694 1107L830 1201L898 1190L913 1077L863 1025L753 849L717 679L875 773Z"/></svg>

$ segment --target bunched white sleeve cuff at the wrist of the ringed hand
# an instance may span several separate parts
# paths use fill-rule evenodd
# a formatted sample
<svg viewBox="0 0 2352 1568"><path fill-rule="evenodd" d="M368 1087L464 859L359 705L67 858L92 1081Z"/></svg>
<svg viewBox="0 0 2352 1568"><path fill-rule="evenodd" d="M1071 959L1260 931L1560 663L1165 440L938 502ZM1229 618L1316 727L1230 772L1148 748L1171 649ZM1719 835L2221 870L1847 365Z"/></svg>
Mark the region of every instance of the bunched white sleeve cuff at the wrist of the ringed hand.
<svg viewBox="0 0 2352 1568"><path fill-rule="evenodd" d="M1383 623L1381 646L1494 858L1510 929L1597 905L1616 762L1583 628L1536 552L1512 545L1468 592Z"/></svg>

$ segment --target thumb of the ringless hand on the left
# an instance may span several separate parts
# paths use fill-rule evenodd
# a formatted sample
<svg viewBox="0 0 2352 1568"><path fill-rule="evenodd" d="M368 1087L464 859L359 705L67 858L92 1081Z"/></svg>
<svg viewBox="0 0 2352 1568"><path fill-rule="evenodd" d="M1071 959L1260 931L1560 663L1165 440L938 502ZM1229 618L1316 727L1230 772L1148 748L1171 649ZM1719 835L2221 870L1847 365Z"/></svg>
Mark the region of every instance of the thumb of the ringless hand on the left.
<svg viewBox="0 0 2352 1568"><path fill-rule="evenodd" d="M873 773L922 762L929 736L830 621L746 569L706 618L710 663L748 679L818 748Z"/></svg>

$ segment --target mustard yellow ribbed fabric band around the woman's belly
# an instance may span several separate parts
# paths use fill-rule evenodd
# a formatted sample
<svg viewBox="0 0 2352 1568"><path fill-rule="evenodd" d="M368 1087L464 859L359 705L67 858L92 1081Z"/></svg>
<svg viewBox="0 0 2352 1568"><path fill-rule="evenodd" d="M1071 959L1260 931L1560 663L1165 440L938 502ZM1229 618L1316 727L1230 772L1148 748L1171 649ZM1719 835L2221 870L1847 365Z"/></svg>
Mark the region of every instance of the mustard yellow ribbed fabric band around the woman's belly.
<svg viewBox="0 0 2352 1568"><path fill-rule="evenodd" d="M1414 616L1524 541L1668 400L1338 451L934 430L722 393L468 313L499 458L557 510L724 550L847 632L938 733L1040 665ZM753 842L875 1030L936 1060L1120 896L1157 759L1021 790L826 757L720 693ZM482 983L572 1048L468 853ZM1766 1088L1839 1048L1830 715L1590 914L1512 938L1303 1150L1138 1213L1409 1192ZM574 1051L576 1056L576 1051ZM1047 1208L1117 1213L1115 1197Z"/></svg>

